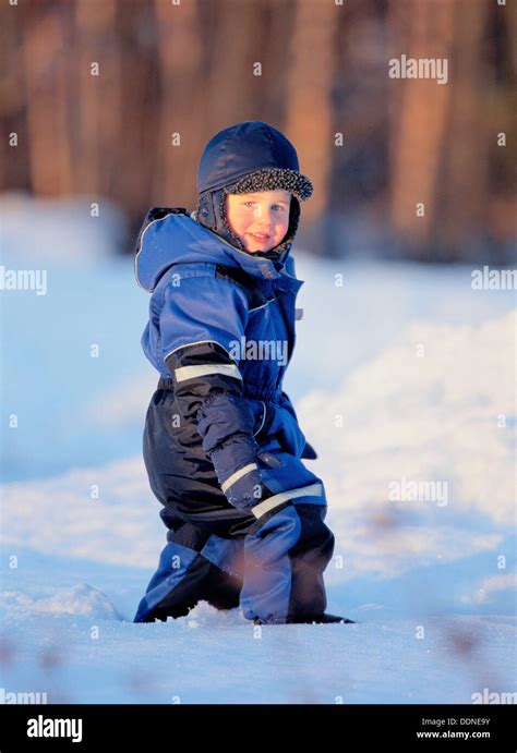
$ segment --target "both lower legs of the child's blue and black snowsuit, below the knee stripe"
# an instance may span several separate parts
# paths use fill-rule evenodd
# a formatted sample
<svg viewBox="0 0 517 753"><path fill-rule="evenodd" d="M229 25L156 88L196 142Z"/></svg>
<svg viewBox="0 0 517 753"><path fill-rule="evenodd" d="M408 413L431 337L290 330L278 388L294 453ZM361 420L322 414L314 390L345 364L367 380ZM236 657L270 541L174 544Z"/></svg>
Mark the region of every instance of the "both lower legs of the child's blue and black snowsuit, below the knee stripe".
<svg viewBox="0 0 517 753"><path fill-rule="evenodd" d="M323 614L323 571L334 550L324 514L321 506L288 502L266 521L245 515L233 541L206 539L193 525L168 535L134 621L183 617L200 599L218 609L240 605L250 620Z"/></svg>

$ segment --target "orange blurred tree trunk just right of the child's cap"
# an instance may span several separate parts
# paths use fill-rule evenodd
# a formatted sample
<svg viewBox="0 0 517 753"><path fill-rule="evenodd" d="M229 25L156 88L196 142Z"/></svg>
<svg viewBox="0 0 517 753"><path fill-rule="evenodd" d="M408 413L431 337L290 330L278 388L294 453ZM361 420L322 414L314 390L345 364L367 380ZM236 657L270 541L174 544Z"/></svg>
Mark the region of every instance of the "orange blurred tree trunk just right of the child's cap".
<svg viewBox="0 0 517 753"><path fill-rule="evenodd" d="M299 153L301 171L314 184L314 194L303 207L304 217L313 221L323 217L328 205L335 148L329 93L341 12L334 2L297 0L289 38L286 134Z"/></svg>

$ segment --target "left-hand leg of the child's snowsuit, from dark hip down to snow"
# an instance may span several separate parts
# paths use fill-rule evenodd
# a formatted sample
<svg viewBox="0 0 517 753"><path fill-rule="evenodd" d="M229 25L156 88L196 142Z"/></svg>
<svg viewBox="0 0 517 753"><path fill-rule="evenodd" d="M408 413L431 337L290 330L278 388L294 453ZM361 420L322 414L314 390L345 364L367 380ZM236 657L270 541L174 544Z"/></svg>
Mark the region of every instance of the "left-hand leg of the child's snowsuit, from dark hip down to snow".
<svg viewBox="0 0 517 753"><path fill-rule="evenodd" d="M170 428L173 411L172 392L158 388L147 409L143 457L151 488L163 506L167 545L134 622L182 617L200 599L220 609L239 606L242 542L228 530L243 515L228 505L208 461L194 473L184 460Z"/></svg>

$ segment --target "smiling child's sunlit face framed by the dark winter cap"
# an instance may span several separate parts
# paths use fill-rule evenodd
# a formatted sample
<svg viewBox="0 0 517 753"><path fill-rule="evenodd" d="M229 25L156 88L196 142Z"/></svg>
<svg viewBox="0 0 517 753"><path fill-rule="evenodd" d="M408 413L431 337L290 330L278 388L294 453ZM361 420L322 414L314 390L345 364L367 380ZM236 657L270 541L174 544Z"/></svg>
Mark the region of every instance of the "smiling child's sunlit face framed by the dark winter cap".
<svg viewBox="0 0 517 753"><path fill-rule="evenodd" d="M269 251L287 233L290 204L288 191L228 194L226 217L231 232L240 238L247 251Z"/></svg>

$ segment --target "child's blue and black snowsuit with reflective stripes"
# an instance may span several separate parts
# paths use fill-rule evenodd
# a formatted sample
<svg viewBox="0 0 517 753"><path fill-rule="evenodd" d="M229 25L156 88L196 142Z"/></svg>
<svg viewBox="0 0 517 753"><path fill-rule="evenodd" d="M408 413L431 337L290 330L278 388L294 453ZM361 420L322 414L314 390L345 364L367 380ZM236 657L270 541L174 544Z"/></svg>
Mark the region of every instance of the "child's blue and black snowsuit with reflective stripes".
<svg viewBox="0 0 517 753"><path fill-rule="evenodd" d="M168 532L134 621L200 599L269 622L323 614L334 535L282 390L303 284L290 247L278 260L245 253L184 209L155 207L136 248L152 293L142 347L160 374L143 454Z"/></svg>

